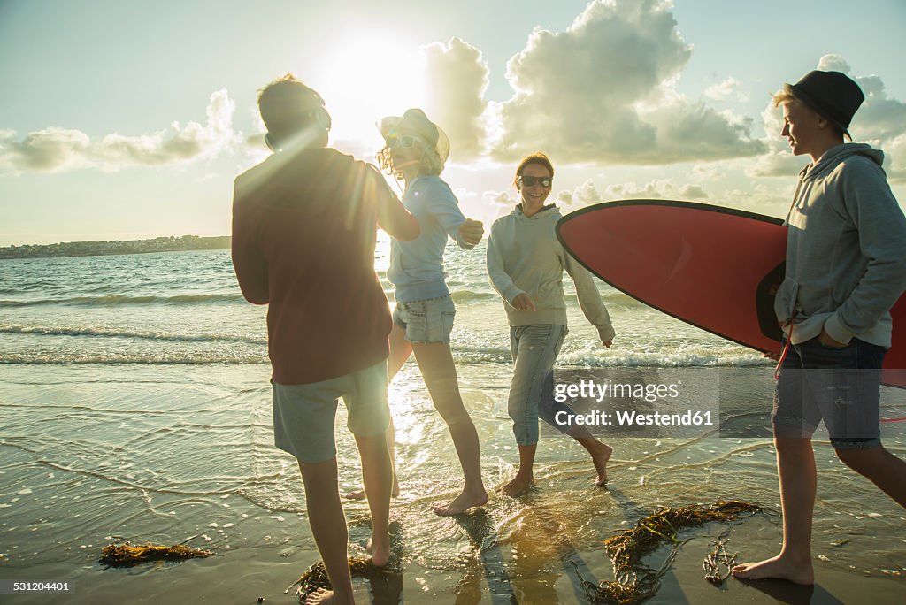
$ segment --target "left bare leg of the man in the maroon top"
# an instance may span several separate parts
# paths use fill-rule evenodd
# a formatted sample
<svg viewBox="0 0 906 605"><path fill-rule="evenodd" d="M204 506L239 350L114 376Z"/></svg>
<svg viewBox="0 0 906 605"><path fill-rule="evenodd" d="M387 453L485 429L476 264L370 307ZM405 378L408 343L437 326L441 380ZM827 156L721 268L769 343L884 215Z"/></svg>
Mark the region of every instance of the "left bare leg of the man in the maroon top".
<svg viewBox="0 0 906 605"><path fill-rule="evenodd" d="M305 502L308 523L312 527L314 542L327 570L333 591L323 591L320 596L306 602L353 603L352 576L346 544L349 530L343 515L340 493L337 491L337 459L308 464L299 462L305 485ZM320 600L317 600L320 599Z"/></svg>

